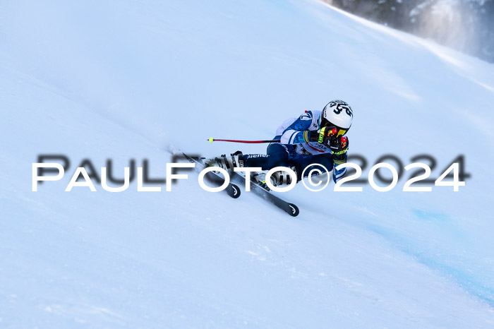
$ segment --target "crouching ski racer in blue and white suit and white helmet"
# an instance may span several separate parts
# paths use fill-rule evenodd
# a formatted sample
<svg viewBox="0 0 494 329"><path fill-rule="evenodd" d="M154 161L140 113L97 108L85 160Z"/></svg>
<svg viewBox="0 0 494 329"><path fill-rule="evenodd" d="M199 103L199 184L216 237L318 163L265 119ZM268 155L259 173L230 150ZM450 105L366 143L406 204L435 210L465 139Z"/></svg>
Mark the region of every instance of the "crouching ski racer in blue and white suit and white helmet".
<svg viewBox="0 0 494 329"><path fill-rule="evenodd" d="M267 154L246 154L237 151L230 157L222 155L208 162L210 166L233 170L234 167L289 167L296 173L297 182L306 178L313 164L323 164L336 182L347 173L347 169L336 170L347 162L348 137L344 136L351 126L353 111L342 100L332 100L323 111L306 111L298 119L285 120L277 128L275 140L267 146ZM307 169L306 169L307 168ZM304 177L303 169L306 169ZM320 167L318 169L321 169ZM262 176L256 177L265 183ZM275 172L271 176L274 186L291 184L287 172Z"/></svg>

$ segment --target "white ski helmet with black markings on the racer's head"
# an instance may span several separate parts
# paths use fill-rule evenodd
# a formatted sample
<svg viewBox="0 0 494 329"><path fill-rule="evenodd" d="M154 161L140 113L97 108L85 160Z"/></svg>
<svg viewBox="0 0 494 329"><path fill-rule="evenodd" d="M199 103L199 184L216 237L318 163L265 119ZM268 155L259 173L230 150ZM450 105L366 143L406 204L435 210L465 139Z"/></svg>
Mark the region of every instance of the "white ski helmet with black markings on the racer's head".
<svg viewBox="0 0 494 329"><path fill-rule="evenodd" d="M332 100L324 107L319 126L320 128L335 126L338 129L338 136L342 136L349 130L352 119L354 112L349 104L342 100Z"/></svg>

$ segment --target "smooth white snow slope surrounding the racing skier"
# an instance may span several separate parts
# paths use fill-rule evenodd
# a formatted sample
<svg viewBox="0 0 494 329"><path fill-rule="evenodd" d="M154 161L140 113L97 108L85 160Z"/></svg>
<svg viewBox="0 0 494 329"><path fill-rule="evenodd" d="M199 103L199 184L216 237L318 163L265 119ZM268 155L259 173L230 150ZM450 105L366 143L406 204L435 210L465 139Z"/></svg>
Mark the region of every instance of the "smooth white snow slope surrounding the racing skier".
<svg viewBox="0 0 494 329"><path fill-rule="evenodd" d="M0 4L0 327L494 326L494 66L317 1ZM282 196L199 188L64 192L76 165L130 159L165 176L167 145L271 138L331 99L370 164L464 154L457 193L363 186ZM64 154L31 191L31 164ZM364 172L366 175L367 170ZM164 186L163 186L164 188Z"/></svg>

